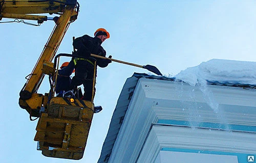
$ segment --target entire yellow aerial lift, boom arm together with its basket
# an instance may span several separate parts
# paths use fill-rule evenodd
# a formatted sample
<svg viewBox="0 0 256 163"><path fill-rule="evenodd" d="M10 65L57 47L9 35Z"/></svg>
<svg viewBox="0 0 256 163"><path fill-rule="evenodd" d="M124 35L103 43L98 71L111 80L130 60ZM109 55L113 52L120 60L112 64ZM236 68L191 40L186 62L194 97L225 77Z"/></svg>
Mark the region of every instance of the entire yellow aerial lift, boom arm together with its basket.
<svg viewBox="0 0 256 163"><path fill-rule="evenodd" d="M94 114L93 102L53 97L53 90L45 95L37 93L44 76L55 74L52 60L69 24L77 19L79 4L76 0L0 0L0 11L0 20L37 20L38 24L55 21L54 31L19 93L19 105L30 114L30 119L39 117L34 141L38 141L37 149L43 155L81 159ZM41 15L45 13L57 16Z"/></svg>

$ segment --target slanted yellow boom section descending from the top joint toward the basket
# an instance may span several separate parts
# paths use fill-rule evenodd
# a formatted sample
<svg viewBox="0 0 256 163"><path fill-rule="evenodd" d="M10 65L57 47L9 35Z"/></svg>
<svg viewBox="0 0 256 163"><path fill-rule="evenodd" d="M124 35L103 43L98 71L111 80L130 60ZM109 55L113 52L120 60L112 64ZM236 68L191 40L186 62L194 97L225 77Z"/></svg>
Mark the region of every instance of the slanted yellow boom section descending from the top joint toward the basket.
<svg viewBox="0 0 256 163"><path fill-rule="evenodd" d="M60 45L60 42L62 41L62 38L64 37L70 22L74 21L77 18L77 11L75 11L75 6L66 6L63 10L63 13L59 17L57 24L55 26L55 29L50 36L49 41L47 42L44 50L41 53L41 56L38 59L38 62L36 63L31 75L29 76L29 79L27 83L25 84L25 87L22 91L29 92L32 95L37 94L37 90L42 82L42 79L44 78L45 74L49 74L52 72L50 67L53 67L49 63L53 60L56 51ZM46 69L45 69L46 68ZM32 110L36 110L37 108L34 108L33 105L29 105L28 102L26 102L27 99L24 99L22 96L20 96L19 105L22 108L25 108L28 113ZM43 103L42 103L43 104ZM33 114L38 115L38 114ZM37 116L38 117L38 116Z"/></svg>

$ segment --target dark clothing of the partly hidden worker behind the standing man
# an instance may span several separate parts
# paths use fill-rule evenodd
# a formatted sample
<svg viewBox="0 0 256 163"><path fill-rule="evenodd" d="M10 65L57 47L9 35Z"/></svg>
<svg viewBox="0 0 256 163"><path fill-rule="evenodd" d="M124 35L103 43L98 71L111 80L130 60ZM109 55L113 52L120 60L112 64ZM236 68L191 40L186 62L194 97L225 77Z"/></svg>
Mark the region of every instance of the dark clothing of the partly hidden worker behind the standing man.
<svg viewBox="0 0 256 163"><path fill-rule="evenodd" d="M57 77L57 83L56 83L56 89L55 89L56 93L59 93L60 91L70 91L70 83L71 83L70 75L72 74L74 68L75 68L74 61L71 60L68 66L58 70L58 77Z"/></svg>

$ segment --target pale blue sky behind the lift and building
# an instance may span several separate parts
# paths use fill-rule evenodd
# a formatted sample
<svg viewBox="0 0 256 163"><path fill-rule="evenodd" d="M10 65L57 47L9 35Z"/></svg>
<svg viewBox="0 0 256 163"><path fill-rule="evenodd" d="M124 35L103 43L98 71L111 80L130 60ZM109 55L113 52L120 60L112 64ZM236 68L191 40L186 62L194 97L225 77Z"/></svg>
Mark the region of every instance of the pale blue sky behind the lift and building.
<svg viewBox="0 0 256 163"><path fill-rule="evenodd" d="M73 36L93 36L96 29L105 28L111 35L102 44L107 55L154 65L166 76L210 59L256 62L255 1L78 2L78 19L71 23L57 53L72 51ZM37 121L29 120L27 112L19 107L18 98L25 76L31 73L53 27L53 21L40 26L0 24L0 96L4 100L0 115L1 162L97 162L126 78L134 72L148 72L114 62L98 68L94 103L101 105L103 111L94 115L83 158L73 161L45 157L33 141ZM48 91L45 78L38 93Z"/></svg>

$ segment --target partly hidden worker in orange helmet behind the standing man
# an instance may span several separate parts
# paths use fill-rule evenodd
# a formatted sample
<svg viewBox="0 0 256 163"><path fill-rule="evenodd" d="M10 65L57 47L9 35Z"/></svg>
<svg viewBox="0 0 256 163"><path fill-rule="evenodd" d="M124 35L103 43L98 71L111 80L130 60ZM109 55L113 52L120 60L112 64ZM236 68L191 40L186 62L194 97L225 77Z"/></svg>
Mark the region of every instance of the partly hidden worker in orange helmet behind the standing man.
<svg viewBox="0 0 256 163"><path fill-rule="evenodd" d="M57 97L74 97L73 92L70 89L71 77L70 75L75 72L74 61L64 62L58 70L58 77L56 82L55 92Z"/></svg>

